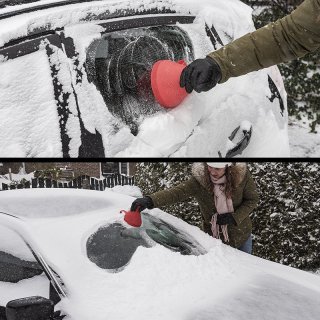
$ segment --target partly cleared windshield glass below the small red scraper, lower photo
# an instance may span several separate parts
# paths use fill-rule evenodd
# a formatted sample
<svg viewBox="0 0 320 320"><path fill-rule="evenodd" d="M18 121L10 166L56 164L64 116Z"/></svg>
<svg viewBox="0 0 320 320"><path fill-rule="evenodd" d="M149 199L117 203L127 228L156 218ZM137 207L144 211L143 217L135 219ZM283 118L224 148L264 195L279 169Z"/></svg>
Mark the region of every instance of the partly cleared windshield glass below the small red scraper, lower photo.
<svg viewBox="0 0 320 320"><path fill-rule="evenodd" d="M142 213L140 228L113 223L100 227L87 241L88 258L102 269L118 272L128 265L139 246L160 244L182 255L205 254L206 250L190 235L171 224Z"/></svg>

